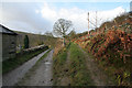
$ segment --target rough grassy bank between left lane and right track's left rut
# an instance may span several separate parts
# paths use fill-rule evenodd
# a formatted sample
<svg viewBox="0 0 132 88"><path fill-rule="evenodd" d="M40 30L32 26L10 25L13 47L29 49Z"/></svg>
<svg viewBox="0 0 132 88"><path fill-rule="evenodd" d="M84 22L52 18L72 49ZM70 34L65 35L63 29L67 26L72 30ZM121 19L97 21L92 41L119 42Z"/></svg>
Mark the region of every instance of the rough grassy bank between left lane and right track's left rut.
<svg viewBox="0 0 132 88"><path fill-rule="evenodd" d="M64 75L64 66L66 63L67 58L67 48L63 47L57 55L53 57L53 85L54 86L59 86L61 85L61 79L63 78Z"/></svg>

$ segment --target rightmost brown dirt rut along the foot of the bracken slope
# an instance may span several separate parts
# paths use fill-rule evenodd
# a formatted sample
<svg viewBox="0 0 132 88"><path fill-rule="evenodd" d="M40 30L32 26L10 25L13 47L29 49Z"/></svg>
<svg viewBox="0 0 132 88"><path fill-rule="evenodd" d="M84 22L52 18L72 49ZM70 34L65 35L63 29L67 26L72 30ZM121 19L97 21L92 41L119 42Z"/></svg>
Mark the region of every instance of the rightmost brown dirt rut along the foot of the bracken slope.
<svg viewBox="0 0 132 88"><path fill-rule="evenodd" d="M98 67L97 63L91 58L80 46L78 46L86 56L87 67L90 72L90 76L95 82L95 86L113 86L113 82L105 74L105 72Z"/></svg>

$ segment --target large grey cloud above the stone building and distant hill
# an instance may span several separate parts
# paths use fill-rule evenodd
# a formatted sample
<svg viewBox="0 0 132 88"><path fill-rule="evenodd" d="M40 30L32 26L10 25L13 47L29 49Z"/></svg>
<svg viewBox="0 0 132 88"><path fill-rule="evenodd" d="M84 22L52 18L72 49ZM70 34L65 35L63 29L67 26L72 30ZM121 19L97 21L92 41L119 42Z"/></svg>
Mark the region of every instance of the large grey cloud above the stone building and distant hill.
<svg viewBox="0 0 132 88"><path fill-rule="evenodd" d="M35 10L40 9L40 3L28 2L2 3L2 21L3 23L4 21L8 22L14 29L19 29L19 31L44 33L46 30L52 30L52 24L42 18L41 13L35 13Z"/></svg>

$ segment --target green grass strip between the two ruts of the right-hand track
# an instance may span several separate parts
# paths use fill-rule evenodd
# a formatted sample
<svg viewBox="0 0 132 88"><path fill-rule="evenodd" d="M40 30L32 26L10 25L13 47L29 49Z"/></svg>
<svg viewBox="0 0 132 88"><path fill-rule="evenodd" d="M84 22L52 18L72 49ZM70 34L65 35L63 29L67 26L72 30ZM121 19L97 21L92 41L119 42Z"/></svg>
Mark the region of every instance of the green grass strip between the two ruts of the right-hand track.
<svg viewBox="0 0 132 88"><path fill-rule="evenodd" d="M72 86L94 86L86 66L85 54L74 43L70 45Z"/></svg>

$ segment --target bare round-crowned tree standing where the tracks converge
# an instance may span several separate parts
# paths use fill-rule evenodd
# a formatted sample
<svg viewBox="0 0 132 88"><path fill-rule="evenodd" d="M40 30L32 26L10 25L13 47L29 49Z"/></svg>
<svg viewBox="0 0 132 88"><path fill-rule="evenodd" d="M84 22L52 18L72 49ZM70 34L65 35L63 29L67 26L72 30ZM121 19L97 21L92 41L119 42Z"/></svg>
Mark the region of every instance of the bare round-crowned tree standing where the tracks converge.
<svg viewBox="0 0 132 88"><path fill-rule="evenodd" d="M64 38L64 45L65 45L65 36L66 32L72 28L73 23L72 21L65 20L65 19L58 19L54 26L53 32L57 35Z"/></svg>

